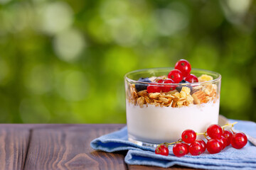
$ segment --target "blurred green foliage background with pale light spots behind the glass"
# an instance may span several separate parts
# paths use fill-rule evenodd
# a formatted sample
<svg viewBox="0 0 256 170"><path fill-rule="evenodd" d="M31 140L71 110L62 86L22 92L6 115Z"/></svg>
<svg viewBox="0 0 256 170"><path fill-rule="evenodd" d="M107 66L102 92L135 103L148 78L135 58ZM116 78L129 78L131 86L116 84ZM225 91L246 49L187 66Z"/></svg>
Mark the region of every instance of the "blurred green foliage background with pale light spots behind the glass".
<svg viewBox="0 0 256 170"><path fill-rule="evenodd" d="M0 123L125 123L124 74L181 58L256 121L255 24L252 0L0 0Z"/></svg>

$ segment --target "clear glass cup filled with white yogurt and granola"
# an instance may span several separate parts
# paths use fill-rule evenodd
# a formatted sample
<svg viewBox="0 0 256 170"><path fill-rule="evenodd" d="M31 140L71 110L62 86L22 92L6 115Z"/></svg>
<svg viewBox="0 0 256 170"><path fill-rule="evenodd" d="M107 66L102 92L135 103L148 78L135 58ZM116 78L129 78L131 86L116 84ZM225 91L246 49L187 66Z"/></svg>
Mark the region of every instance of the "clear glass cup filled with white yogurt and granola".
<svg viewBox="0 0 256 170"><path fill-rule="evenodd" d="M192 69L191 74L206 74L212 80L187 84L168 84L174 91L151 93L147 86L166 86L138 81L149 77L151 81L164 78L171 67L141 69L124 77L126 91L127 130L129 140L138 145L155 147L163 142L175 142L183 130L205 132L210 124L218 123L221 76L216 72ZM142 91L136 88L142 87ZM179 89L177 91L176 89ZM172 89L171 89L172 90Z"/></svg>

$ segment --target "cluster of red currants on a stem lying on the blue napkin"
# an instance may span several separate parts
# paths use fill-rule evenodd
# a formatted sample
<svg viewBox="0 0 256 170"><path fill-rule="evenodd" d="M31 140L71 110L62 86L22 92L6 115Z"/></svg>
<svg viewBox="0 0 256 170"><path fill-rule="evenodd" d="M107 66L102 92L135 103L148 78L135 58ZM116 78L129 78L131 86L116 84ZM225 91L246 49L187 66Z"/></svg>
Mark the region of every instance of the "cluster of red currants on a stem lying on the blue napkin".
<svg viewBox="0 0 256 170"><path fill-rule="evenodd" d="M173 143L164 143L156 147L155 153L167 156L169 154L169 145L174 145L173 152L176 157L183 157L191 153L192 155L199 155L208 150L210 154L216 154L223 150L228 145L232 145L235 149L241 149L247 144L247 137L242 132L233 132L233 130L225 130L228 125L235 125L235 123L224 125L210 125L206 132L196 133L193 130L184 130L181 139ZM197 139L197 135L203 135L204 140Z"/></svg>

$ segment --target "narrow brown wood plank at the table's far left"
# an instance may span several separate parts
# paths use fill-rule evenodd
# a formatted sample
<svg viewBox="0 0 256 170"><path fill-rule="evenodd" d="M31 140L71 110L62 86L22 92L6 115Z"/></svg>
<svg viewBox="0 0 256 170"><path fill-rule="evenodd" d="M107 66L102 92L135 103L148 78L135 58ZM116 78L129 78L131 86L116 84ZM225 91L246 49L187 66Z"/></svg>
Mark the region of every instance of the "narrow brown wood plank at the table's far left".
<svg viewBox="0 0 256 170"><path fill-rule="evenodd" d="M0 169L23 169L28 141L28 128L0 128Z"/></svg>

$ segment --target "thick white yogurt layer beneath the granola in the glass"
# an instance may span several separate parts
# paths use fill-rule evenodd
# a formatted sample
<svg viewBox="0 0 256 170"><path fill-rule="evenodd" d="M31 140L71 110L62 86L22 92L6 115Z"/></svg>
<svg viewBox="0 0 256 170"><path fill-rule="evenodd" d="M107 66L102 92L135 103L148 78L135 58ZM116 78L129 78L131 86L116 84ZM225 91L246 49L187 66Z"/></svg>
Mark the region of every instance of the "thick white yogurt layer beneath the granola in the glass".
<svg viewBox="0 0 256 170"><path fill-rule="evenodd" d="M140 142L159 144L175 142L186 129L206 132L218 123L220 101L181 108L144 105L134 106L127 101L127 128L129 138Z"/></svg>

